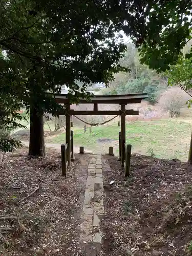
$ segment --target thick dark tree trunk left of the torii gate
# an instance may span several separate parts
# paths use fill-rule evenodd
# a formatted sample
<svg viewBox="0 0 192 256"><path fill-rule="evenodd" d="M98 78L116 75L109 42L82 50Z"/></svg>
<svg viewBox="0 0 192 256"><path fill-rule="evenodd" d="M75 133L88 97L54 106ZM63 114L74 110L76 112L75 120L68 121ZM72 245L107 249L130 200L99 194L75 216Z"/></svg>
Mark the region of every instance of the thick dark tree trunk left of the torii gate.
<svg viewBox="0 0 192 256"><path fill-rule="evenodd" d="M36 108L30 109L30 156L45 156L44 118Z"/></svg>

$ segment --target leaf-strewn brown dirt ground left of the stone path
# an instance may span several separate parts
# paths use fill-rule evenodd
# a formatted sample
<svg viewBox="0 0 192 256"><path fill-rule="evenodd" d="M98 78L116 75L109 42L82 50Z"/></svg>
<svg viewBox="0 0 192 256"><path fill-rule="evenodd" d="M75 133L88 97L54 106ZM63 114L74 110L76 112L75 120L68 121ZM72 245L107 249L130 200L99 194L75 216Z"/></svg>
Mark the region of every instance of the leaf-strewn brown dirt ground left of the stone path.
<svg viewBox="0 0 192 256"><path fill-rule="evenodd" d="M0 255L79 255L89 155L75 158L64 178L55 150L41 158L29 159L25 149L5 156L0 166Z"/></svg>

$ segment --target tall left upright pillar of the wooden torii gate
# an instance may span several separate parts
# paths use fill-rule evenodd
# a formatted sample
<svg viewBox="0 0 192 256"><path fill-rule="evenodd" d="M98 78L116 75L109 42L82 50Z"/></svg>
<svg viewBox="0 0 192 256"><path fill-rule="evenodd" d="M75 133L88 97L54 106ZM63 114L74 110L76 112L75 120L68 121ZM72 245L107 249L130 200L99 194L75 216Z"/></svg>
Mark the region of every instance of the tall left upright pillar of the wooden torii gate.
<svg viewBox="0 0 192 256"><path fill-rule="evenodd" d="M66 144L68 144L66 158L68 161L68 166L71 164L71 116L69 114L70 104L66 104Z"/></svg>

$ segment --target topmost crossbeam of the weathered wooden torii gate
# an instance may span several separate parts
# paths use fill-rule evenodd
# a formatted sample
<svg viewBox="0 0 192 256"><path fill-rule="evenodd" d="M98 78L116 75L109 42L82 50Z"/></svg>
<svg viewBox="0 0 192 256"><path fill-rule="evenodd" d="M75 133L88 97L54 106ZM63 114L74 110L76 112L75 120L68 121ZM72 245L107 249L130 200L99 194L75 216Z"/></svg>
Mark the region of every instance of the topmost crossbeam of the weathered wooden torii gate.
<svg viewBox="0 0 192 256"><path fill-rule="evenodd" d="M136 93L136 94L123 94L123 95L95 95L90 97L88 102L86 99L80 98L79 103L111 103L111 104L131 104L131 103L141 103L141 100L146 99L148 96L146 93ZM67 94L56 94L55 100L57 103L66 104L70 102Z"/></svg>

